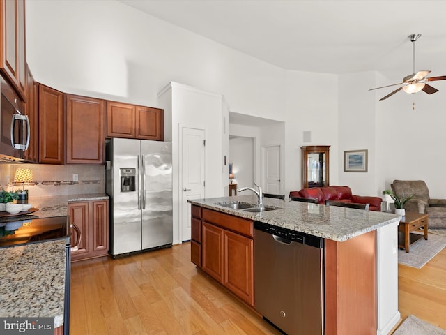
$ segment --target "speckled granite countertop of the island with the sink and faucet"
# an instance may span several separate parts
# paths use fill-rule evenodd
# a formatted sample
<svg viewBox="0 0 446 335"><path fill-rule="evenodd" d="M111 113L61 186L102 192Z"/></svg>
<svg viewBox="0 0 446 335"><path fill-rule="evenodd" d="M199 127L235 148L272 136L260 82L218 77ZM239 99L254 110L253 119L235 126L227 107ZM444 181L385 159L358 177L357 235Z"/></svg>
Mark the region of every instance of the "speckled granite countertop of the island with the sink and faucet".
<svg viewBox="0 0 446 335"><path fill-rule="evenodd" d="M226 214L261 221L270 225L305 232L317 237L346 241L377 228L399 221L401 216L380 211L364 211L346 207L309 204L307 202L263 198L265 206L277 207L273 211L250 213L218 205L226 202L257 203L256 195L188 200L191 204L222 211Z"/></svg>

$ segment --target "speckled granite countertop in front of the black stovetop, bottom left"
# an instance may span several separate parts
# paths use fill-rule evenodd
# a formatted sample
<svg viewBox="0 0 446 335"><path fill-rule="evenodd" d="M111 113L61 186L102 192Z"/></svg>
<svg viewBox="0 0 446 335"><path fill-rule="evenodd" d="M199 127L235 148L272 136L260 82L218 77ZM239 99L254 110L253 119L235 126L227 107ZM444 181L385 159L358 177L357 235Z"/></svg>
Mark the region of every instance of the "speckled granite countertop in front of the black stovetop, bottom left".
<svg viewBox="0 0 446 335"><path fill-rule="evenodd" d="M0 248L0 315L63 325L66 239Z"/></svg>

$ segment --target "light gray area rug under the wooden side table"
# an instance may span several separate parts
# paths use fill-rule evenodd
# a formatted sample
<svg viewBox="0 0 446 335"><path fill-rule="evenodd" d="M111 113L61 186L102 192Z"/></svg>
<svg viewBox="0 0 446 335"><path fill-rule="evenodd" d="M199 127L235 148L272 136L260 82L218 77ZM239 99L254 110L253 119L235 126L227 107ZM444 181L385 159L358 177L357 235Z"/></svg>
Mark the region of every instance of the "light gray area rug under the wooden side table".
<svg viewBox="0 0 446 335"><path fill-rule="evenodd" d="M443 250L446 246L446 236L429 234L427 241L420 239L409 247L409 252L398 250L398 262L409 267L420 269L433 256Z"/></svg>

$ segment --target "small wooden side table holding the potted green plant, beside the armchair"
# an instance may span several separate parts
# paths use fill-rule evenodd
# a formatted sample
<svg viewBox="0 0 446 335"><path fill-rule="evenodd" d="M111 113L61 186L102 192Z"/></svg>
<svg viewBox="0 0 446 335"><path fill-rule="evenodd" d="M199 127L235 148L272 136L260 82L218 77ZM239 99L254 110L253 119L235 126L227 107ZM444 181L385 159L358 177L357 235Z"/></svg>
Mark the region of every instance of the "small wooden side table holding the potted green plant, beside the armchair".
<svg viewBox="0 0 446 335"><path fill-rule="evenodd" d="M403 216L398 226L398 246L404 248L406 253L409 252L409 246L419 239L427 239L428 214L409 213ZM424 234L413 234L415 230L423 228Z"/></svg>

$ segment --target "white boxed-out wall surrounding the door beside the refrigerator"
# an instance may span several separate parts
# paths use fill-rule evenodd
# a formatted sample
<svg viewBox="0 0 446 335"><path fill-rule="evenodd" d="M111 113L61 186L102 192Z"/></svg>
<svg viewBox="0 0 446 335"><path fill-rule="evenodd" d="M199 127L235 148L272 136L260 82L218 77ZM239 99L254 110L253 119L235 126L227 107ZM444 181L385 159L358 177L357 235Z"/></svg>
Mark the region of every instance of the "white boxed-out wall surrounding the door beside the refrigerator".
<svg viewBox="0 0 446 335"><path fill-rule="evenodd" d="M227 165L224 155L228 155L228 134L224 135L224 120L228 118L229 109L224 97L177 82L169 83L159 93L160 107L164 109L170 124L164 124L172 142L172 189L174 244L190 236L181 234L183 216L183 170L181 167L182 144L181 129L195 128L204 131L206 140L206 157L204 162L206 198L221 197L227 194ZM224 189L226 188L226 193Z"/></svg>

